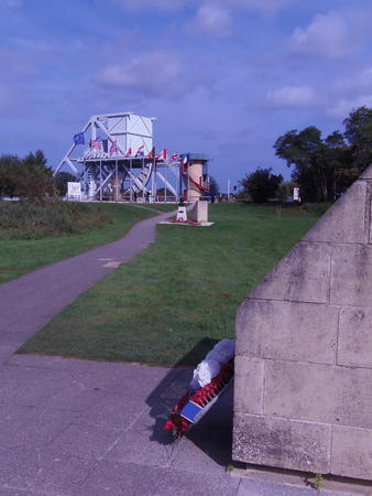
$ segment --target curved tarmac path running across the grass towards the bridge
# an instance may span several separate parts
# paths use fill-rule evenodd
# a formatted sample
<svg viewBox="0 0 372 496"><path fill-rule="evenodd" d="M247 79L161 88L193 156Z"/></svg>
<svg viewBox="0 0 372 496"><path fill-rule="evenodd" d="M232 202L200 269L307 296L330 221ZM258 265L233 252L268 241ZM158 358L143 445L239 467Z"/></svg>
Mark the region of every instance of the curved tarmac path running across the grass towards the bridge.
<svg viewBox="0 0 372 496"><path fill-rule="evenodd" d="M1 284L0 363L79 294L154 242L156 224L174 214L141 220L118 241Z"/></svg>

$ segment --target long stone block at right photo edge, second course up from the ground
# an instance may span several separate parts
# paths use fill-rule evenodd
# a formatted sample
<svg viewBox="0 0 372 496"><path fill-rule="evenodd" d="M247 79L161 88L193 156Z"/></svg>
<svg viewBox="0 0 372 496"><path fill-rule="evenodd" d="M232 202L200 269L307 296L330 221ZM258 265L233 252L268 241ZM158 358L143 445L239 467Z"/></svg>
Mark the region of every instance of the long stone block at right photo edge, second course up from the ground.
<svg viewBox="0 0 372 496"><path fill-rule="evenodd" d="M372 429L371 385L366 368L266 362L264 412Z"/></svg>

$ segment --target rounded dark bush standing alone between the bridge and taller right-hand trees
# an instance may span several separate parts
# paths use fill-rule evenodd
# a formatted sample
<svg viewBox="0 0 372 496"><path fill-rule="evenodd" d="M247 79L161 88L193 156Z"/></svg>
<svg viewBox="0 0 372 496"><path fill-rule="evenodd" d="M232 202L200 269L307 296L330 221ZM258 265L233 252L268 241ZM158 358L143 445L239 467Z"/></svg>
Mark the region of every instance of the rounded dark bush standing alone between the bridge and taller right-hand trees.
<svg viewBox="0 0 372 496"><path fill-rule="evenodd" d="M239 181L245 194L249 194L254 203L264 203L274 198L278 185L283 181L282 175L272 174L272 169L258 168L251 174Z"/></svg>

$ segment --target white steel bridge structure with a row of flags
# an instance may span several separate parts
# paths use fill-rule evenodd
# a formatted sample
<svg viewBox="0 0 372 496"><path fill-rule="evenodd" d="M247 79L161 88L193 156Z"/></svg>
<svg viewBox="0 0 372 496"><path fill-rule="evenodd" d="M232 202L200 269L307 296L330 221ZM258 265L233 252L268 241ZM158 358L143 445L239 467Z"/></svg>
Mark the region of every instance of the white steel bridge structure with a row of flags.
<svg viewBox="0 0 372 496"><path fill-rule="evenodd" d="M208 192L204 154L156 155L153 117L132 112L91 116L54 171L68 168L81 184L81 198L111 201L198 200Z"/></svg>

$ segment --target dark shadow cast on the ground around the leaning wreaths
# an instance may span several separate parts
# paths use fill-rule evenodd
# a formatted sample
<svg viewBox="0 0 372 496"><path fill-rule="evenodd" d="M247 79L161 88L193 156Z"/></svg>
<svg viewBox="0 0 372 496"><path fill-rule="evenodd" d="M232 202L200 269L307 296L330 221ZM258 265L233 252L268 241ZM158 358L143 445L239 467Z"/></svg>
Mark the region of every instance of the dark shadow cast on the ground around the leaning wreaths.
<svg viewBox="0 0 372 496"><path fill-rule="evenodd" d="M177 444L172 432L164 430L164 424L172 408L186 392L193 377L194 366L184 364L199 363L218 343L218 339L206 337L165 375L162 381L146 398L150 416L154 419L151 441L163 445ZM232 384L218 399L214 407L193 427L186 438L195 446L206 453L218 465L226 467L231 463L232 444L233 386Z"/></svg>

